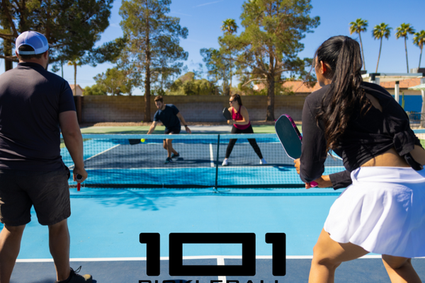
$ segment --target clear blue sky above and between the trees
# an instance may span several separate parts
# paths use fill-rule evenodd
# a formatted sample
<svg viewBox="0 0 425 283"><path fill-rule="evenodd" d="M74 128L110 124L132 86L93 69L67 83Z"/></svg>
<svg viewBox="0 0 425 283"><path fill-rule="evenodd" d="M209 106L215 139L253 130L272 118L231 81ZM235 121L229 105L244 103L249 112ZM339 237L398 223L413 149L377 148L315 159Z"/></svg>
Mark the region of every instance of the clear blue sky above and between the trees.
<svg viewBox="0 0 425 283"><path fill-rule="evenodd" d="M217 37L222 35L220 29L222 21L234 18L239 25L238 33L242 32L240 14L243 0L172 0L169 16L179 17L181 26L188 28L189 35L186 40L181 40L181 46L189 52L186 64L189 69L197 69L202 62L199 50L207 47L218 47ZM121 18L118 11L121 0L115 0L111 11L110 26L101 35L98 45L108 42L123 35L120 28ZM387 23L392 28L389 40L382 42L382 53L378 71L388 73L406 72L406 56L404 53L404 40L396 40L395 29L401 23L410 23L416 31L425 30L425 1L424 0L312 0L311 16L320 17L320 25L314 33L308 33L302 42L305 50L300 57L312 57L317 47L333 35L350 35L348 26L356 18L368 20L368 30L361 34L365 52L365 66L374 72L378 60L379 40L374 40L372 30L375 25ZM358 38L358 35L351 35ZM424 48L425 49L425 48ZM409 54L409 69L418 67L419 47L413 45L413 36L407 40ZM424 52L425 53L425 52ZM425 54L422 56L421 67L425 67ZM93 85L93 77L112 64L101 64L97 67L78 67L77 83L82 86ZM4 70L4 62L0 62L0 70ZM61 74L59 71L57 74ZM64 79L74 83L73 67L64 67ZM134 94L142 91L135 90Z"/></svg>

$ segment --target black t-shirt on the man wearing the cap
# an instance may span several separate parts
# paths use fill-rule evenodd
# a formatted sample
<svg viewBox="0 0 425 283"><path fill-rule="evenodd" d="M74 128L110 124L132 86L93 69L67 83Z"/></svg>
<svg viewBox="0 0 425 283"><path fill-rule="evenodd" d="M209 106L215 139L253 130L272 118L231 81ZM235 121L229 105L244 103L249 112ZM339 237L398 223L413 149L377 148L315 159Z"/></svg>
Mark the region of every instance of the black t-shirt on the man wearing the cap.
<svg viewBox="0 0 425 283"><path fill-rule="evenodd" d="M0 169L62 168L59 113L75 111L67 81L40 64L19 63L0 76Z"/></svg>

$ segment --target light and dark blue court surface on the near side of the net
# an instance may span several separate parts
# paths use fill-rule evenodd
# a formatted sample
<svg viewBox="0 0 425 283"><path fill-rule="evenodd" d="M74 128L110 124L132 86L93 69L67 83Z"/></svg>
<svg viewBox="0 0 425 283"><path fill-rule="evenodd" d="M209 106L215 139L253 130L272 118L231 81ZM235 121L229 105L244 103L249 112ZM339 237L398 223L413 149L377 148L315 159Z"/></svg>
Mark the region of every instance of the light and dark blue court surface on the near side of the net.
<svg viewBox="0 0 425 283"><path fill-rule="evenodd" d="M72 267L81 265L81 273L90 273L96 282L307 282L312 248L339 193L331 189L219 193L71 189ZM147 245L140 243L140 233L160 234L159 276L147 276ZM169 233L255 233L256 273L227 277L170 276ZM286 234L285 276L273 276L272 245L266 243L266 233ZM241 265L241 256L242 244L183 244L183 265ZM424 280L425 259L414 259L413 264ZM33 221L23 235L11 282L55 282L47 227L38 224L34 212ZM369 255L343 263L336 272L336 282L390 281L379 256Z"/></svg>

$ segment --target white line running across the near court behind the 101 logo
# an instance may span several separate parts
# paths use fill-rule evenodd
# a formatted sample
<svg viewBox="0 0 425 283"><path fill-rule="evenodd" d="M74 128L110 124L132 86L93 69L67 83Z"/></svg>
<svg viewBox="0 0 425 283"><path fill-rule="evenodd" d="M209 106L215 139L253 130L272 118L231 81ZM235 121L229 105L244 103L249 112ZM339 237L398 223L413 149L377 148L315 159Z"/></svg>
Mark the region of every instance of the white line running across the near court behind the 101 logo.
<svg viewBox="0 0 425 283"><path fill-rule="evenodd" d="M195 255L195 256L183 256L183 260L208 260L216 259L217 265L225 265L225 259L242 259L242 255ZM271 255L257 255L257 260L271 260ZM287 260L311 260L312 255L286 255ZM381 255L364 255L359 259L373 259L381 258ZM425 259L422 257L420 259ZM146 258L71 258L70 261L82 261L82 262L103 262L103 261L137 261L146 260ZM161 257L160 260L169 260L169 257ZM16 262L53 262L51 258L39 258L39 259L18 259ZM225 282L225 281L223 281Z"/></svg>

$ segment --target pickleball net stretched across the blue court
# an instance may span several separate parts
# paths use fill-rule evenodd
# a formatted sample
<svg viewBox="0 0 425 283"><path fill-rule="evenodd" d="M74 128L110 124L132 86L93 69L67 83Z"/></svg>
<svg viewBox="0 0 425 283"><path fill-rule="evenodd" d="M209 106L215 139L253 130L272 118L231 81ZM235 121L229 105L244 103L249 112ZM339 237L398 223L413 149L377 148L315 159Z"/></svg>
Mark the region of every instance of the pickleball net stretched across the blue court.
<svg viewBox="0 0 425 283"><path fill-rule="evenodd" d="M286 156L276 134L176 134L179 156L165 163L165 134L83 134L86 187L111 188L293 188L304 187L293 160ZM145 141L141 141L144 139ZM222 166L229 139L237 139ZM249 144L255 139L267 164ZM134 144L135 141L140 141ZM131 142L131 144L130 144ZM65 147L62 159L71 170ZM343 171L342 161L328 157L324 174ZM69 180L71 187L77 183Z"/></svg>

